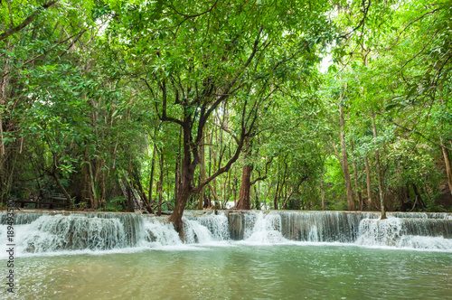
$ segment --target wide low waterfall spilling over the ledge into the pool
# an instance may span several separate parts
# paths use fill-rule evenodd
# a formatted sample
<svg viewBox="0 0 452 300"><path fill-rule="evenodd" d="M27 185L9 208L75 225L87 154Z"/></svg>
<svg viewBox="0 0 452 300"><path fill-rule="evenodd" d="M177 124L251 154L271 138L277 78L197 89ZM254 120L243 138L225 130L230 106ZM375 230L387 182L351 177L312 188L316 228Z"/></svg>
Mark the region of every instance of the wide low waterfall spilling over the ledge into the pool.
<svg viewBox="0 0 452 300"><path fill-rule="evenodd" d="M448 213L394 212L379 220L372 212L344 211L187 211L184 242L166 217L106 212L16 212L18 254L159 248L183 244L268 245L342 243L364 247L452 251ZM5 224L5 213L0 213ZM0 225L6 240L6 225ZM2 243L5 247L5 242ZM4 248L0 248L5 256Z"/></svg>

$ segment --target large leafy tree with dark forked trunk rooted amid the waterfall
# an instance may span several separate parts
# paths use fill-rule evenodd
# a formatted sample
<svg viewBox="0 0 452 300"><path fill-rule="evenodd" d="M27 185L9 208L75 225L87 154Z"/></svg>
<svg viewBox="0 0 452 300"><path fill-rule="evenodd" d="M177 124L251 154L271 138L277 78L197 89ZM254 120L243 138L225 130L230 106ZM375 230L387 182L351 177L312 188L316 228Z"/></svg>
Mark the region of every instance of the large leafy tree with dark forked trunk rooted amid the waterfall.
<svg viewBox="0 0 452 300"><path fill-rule="evenodd" d="M332 39L325 17L311 14L327 9L325 2L310 6L158 2L140 5L139 10L132 4L121 7L108 34L118 34L115 41L124 49L135 76L146 85L158 117L182 128L181 181L170 217L176 230L182 232L190 195L201 192L239 158L259 109L272 93L268 87L278 84L286 73L299 74L306 63L303 58L311 55L309 51ZM158 19L156 15L165 17ZM127 23L130 31L116 32ZM300 33L304 35L301 39ZM137 59L139 64L134 62ZM262 98L250 98L255 91ZM204 128L222 103L231 102L241 107L234 128L238 140L235 151L226 164L193 186Z"/></svg>

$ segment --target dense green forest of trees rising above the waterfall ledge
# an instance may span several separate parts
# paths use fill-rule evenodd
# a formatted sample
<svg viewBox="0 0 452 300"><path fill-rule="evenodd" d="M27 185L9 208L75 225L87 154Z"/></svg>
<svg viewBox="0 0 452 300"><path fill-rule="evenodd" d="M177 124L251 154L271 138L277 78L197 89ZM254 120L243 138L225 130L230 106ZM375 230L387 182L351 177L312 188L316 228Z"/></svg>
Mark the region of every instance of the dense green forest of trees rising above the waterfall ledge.
<svg viewBox="0 0 452 300"><path fill-rule="evenodd" d="M450 211L450 1L0 2L0 200ZM34 204L33 204L34 205Z"/></svg>

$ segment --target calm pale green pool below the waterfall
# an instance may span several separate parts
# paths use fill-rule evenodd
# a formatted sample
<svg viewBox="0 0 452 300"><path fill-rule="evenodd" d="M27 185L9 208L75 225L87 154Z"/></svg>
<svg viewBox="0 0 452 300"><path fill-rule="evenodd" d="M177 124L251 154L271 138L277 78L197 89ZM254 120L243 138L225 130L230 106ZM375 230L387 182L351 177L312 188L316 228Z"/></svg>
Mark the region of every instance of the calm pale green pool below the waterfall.
<svg viewBox="0 0 452 300"><path fill-rule="evenodd" d="M236 245L17 258L15 270L17 299L452 299L445 252Z"/></svg>

